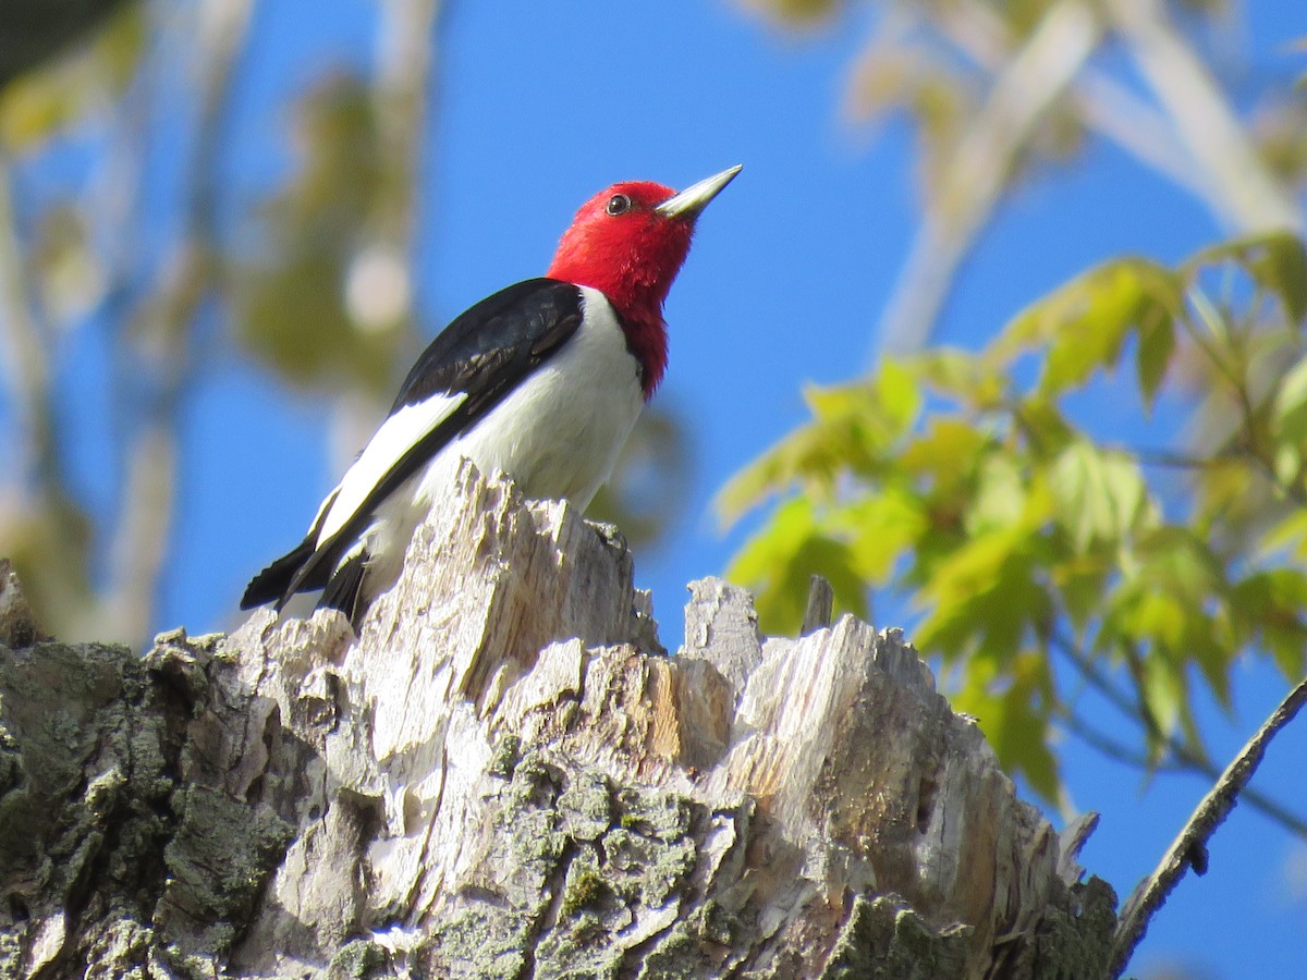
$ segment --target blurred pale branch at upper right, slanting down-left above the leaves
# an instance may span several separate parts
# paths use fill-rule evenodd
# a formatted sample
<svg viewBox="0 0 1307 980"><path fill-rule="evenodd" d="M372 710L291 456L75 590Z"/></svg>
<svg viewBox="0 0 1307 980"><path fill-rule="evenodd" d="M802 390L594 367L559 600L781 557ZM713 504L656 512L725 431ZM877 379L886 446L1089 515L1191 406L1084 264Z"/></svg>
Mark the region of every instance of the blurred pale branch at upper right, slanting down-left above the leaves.
<svg viewBox="0 0 1307 980"><path fill-rule="evenodd" d="M1031 133L1093 54L1093 9L1061 0L997 74L958 140L878 328L885 349L923 346L963 257L989 221Z"/></svg>

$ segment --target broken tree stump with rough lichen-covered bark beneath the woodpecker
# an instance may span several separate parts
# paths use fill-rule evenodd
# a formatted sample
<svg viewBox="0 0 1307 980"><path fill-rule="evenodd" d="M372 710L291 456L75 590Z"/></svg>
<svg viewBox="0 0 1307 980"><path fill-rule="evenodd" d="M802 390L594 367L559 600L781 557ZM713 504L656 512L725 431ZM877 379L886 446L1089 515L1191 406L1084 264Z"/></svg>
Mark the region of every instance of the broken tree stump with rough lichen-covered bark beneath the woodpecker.
<svg viewBox="0 0 1307 980"><path fill-rule="evenodd" d="M902 635L657 642L621 537L467 465L358 638L42 640L0 568L0 976L1098 977L1081 883Z"/></svg>

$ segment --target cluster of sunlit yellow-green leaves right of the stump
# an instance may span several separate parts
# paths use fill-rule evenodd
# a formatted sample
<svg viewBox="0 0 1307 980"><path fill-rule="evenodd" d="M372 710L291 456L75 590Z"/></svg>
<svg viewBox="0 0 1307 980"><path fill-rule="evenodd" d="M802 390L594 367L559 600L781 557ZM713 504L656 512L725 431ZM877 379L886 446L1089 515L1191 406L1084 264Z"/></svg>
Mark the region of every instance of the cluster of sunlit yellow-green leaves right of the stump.
<svg viewBox="0 0 1307 980"><path fill-rule="evenodd" d="M1193 297L1214 270L1240 285L1204 312ZM1238 657L1270 653L1286 677L1303 666L1307 568L1295 542L1307 525L1295 502L1307 384L1293 365L1304 353L1304 310L1302 243L1238 239L1175 269L1107 263L976 354L890 358L865 382L813 391L813 422L723 491L728 514L799 491L732 574L761 591L769 629L797 626L801 610L786 596L802 595L796 583L813 572L851 612L867 608L869 587L906 595L924 610L915 635L944 660L955 700L1051 800L1060 791L1047 732L1074 711L1050 660L1059 644L1138 721L1146 745L1127 758L1155 768L1165 751L1214 776L1191 677L1229 706ZM1200 331L1204 316L1239 327ZM1231 367L1252 338L1256 387ZM1021 385L1031 358L1038 376ZM1099 443L1063 412L1129 361L1145 408L1166 392L1168 414L1192 419L1179 426L1182 444ZM1231 416L1247 422L1234 431L1204 422ZM1158 468L1180 482L1154 486ZM1132 696L1108 664L1124 668Z"/></svg>

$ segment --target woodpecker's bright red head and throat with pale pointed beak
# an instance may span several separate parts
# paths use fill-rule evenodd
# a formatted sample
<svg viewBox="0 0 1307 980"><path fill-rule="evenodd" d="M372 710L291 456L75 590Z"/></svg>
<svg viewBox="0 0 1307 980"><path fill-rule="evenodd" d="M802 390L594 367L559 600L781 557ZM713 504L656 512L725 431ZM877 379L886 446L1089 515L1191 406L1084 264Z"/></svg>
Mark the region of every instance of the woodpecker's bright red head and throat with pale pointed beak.
<svg viewBox="0 0 1307 980"><path fill-rule="evenodd" d="M580 206L545 273L608 297L644 366L646 396L667 367L663 303L690 251L694 221L738 172L724 170L680 193L651 180L613 184Z"/></svg>

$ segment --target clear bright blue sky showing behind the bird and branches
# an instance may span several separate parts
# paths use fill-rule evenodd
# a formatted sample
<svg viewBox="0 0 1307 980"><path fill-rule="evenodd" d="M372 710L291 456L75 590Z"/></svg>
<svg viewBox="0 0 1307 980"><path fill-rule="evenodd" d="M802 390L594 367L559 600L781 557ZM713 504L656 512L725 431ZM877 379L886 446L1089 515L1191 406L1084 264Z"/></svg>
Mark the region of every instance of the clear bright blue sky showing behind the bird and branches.
<svg viewBox="0 0 1307 980"><path fill-rule="evenodd" d="M1255 74L1293 71L1281 46L1307 34L1307 12L1297 8L1253 5ZM225 161L244 192L259 193L291 166L288 97L331 64L371 59L369 4L337 0L315 5L312 18L303 13L288 0L259 7ZM664 549L637 555L637 574L655 593L669 645L685 583L719 574L748 529L723 533L712 495L804 421L802 385L847 379L868 363L911 240L910 132L898 123L860 129L840 114L868 29L865 13L793 38L727 3L499 0L455 4L443 35L417 248L429 333L490 291L540 274L575 208L605 184L684 187L745 165L701 221L667 308L672 353L659 399L686 419L695 472L681 527ZM166 171L152 192L159 200L175 192ZM940 340L979 345L1094 261L1121 252L1174 260L1219 233L1170 184L1110 148L1091 149L1004 208L963 270ZM74 376L105 357L93 335L78 344ZM161 629L233 626L248 576L298 541L337 477L322 408L239 350L216 351L186 419ZM82 431L94 431L98 410L93 401L69 409ZM107 507L112 481L97 468L103 455L93 442L78 453L78 485ZM878 626L898 625L898 610L878 612ZM1214 757L1236 751L1282 693L1270 670L1243 670L1236 717L1202 711ZM1256 780L1300 811L1304 729L1281 737ZM1205 791L1183 776L1149 785L1074 745L1065 772L1076 804L1103 813L1085 864L1123 898ZM1304 864L1307 845L1240 808L1216 836L1210 873L1187 879L1157 916L1134 972L1174 963L1221 977L1302 971L1307 883L1294 891L1289 878Z"/></svg>

